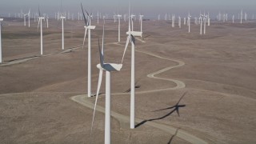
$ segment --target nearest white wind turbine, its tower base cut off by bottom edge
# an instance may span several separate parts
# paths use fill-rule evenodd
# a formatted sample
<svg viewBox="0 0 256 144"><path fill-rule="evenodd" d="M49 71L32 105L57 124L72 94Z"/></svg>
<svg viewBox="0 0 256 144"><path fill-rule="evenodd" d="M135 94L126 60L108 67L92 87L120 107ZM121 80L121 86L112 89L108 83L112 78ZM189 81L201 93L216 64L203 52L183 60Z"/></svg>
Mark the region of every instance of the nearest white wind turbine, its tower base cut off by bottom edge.
<svg viewBox="0 0 256 144"><path fill-rule="evenodd" d="M94 126L94 116L95 116L95 111L96 111L96 106L98 102L98 94L99 90L101 88L102 84L102 75L103 71L106 71L106 104L105 104L105 144L110 144L111 141L111 122L110 122L110 97L111 97L111 82L110 82L110 74L113 71L120 71L122 69L122 63L105 63L104 62L104 25L103 25L103 34L102 34L102 49L99 46L99 40L98 40L98 50L100 54L100 63L97 65L97 68L99 69L99 74L98 74L98 88L97 88L97 94L96 94L96 99L95 99L95 105L94 105L94 115L93 115L93 120L92 120L92 125L90 129L90 137L92 134L93 126ZM126 52L126 51L125 51ZM124 52L124 54L125 54Z"/></svg>

